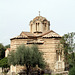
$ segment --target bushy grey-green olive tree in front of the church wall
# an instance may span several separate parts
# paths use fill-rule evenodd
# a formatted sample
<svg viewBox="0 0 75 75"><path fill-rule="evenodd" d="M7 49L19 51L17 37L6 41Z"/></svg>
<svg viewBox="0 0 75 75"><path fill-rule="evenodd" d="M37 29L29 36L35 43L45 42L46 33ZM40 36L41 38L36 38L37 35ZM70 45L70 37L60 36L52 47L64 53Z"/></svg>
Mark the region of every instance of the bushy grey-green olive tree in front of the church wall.
<svg viewBox="0 0 75 75"><path fill-rule="evenodd" d="M8 62L13 65L26 65L28 75L30 67L35 67L36 65L40 68L45 67L45 62L42 55L43 53L38 50L36 45L31 47L20 45L17 47L15 53L10 53L8 56Z"/></svg>

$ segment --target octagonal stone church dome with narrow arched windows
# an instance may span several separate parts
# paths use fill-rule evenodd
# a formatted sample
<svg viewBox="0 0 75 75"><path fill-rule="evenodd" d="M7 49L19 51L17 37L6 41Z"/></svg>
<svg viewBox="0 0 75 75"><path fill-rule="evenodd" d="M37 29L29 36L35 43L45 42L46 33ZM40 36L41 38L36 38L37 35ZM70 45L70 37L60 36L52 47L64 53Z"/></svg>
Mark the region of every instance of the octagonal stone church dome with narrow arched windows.
<svg viewBox="0 0 75 75"><path fill-rule="evenodd" d="M30 31L32 33L43 33L50 30L50 22L42 16L36 16L30 21Z"/></svg>

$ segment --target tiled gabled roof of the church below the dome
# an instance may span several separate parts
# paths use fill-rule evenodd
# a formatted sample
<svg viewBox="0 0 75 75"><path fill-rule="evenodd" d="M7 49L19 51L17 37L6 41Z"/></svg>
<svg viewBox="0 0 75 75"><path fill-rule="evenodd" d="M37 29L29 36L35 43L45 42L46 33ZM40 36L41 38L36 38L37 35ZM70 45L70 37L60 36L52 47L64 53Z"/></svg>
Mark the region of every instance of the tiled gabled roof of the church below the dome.
<svg viewBox="0 0 75 75"><path fill-rule="evenodd" d="M56 32L54 32L53 30L47 31L45 33L42 33L40 35L34 35L31 32L22 32L19 36L16 36L12 39L27 39L28 37L43 37L43 38L50 38L50 37L61 37L59 34L57 34Z"/></svg>

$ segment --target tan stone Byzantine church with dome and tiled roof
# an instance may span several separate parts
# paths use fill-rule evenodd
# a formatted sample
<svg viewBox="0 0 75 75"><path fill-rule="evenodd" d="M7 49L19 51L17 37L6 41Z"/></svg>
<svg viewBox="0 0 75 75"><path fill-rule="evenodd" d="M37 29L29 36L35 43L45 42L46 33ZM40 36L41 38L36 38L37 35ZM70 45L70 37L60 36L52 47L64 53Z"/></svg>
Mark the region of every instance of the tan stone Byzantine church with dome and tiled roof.
<svg viewBox="0 0 75 75"><path fill-rule="evenodd" d="M15 50L17 46L24 44L30 46L37 44L49 69L53 72L64 71L63 52L59 53L56 46L60 42L61 36L50 29L50 21L45 17L37 16L30 21L30 32L21 32L19 36L11 38L10 50ZM17 67L11 66L11 72L16 72Z"/></svg>

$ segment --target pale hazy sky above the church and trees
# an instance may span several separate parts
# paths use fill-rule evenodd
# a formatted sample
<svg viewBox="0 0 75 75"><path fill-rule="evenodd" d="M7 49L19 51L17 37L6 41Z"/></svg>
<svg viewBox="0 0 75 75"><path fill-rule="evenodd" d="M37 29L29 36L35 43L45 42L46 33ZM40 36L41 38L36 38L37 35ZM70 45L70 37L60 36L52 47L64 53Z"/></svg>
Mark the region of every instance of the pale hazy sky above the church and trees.
<svg viewBox="0 0 75 75"><path fill-rule="evenodd" d="M59 35L75 32L75 0L0 0L0 43L8 45L10 38L30 31L38 11Z"/></svg>

